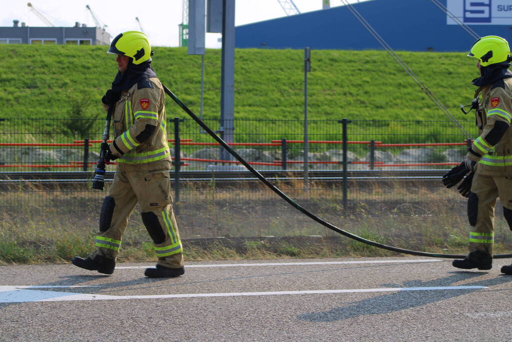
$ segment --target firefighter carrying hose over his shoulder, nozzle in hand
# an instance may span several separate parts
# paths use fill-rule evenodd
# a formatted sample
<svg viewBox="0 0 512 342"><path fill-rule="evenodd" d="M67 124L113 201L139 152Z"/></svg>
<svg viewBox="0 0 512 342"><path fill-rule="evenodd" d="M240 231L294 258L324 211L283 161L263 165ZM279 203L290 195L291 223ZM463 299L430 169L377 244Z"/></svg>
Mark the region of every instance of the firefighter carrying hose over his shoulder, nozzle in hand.
<svg viewBox="0 0 512 342"><path fill-rule="evenodd" d="M127 31L114 38L108 53L117 55L118 73L112 89L101 99L105 110L115 106L115 139L105 161L116 160L118 166L109 195L101 206L97 250L87 259L75 257L72 263L112 274L128 219L138 203L158 257L156 267L147 268L144 274L179 276L184 274L184 264L171 206L165 93L151 67L150 42L142 32Z"/></svg>

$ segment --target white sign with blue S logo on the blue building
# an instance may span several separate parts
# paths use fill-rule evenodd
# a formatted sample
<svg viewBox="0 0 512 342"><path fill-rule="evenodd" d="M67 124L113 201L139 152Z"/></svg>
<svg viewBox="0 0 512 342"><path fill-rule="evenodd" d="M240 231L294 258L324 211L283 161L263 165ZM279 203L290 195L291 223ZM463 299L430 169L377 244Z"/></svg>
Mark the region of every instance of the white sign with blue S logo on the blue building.
<svg viewBox="0 0 512 342"><path fill-rule="evenodd" d="M446 8L467 25L512 25L510 0L446 0ZM447 25L458 25L449 15Z"/></svg>

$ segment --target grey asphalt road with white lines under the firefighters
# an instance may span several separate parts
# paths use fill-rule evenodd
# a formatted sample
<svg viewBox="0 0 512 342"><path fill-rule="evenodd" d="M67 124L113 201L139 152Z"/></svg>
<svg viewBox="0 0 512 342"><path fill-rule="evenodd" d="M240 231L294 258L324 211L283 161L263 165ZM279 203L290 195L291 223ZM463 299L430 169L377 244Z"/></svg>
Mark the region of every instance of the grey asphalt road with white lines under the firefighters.
<svg viewBox="0 0 512 342"><path fill-rule="evenodd" d="M0 266L2 341L509 341L512 276L411 257Z"/></svg>

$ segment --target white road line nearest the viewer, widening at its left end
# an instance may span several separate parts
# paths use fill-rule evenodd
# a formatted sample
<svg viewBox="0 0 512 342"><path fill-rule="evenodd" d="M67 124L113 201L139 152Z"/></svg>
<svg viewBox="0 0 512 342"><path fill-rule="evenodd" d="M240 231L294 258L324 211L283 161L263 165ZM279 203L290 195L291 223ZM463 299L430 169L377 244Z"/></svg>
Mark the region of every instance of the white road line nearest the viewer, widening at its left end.
<svg viewBox="0 0 512 342"><path fill-rule="evenodd" d="M43 287L43 286L40 286ZM72 286L70 286L72 287ZM233 297L233 296L264 296L284 294L325 294L355 292L393 292L393 291L435 291L435 290L466 290L487 289L485 286L438 286L438 287L391 287L380 289L346 289L346 290L311 290L311 291L271 291L271 292L231 292L231 293L188 293L188 294L155 294L113 296L90 293L70 293L56 291L35 291L30 286L0 286L0 303L26 302L62 302L62 301L100 301L100 300L134 300L154 298L193 298L193 297Z"/></svg>

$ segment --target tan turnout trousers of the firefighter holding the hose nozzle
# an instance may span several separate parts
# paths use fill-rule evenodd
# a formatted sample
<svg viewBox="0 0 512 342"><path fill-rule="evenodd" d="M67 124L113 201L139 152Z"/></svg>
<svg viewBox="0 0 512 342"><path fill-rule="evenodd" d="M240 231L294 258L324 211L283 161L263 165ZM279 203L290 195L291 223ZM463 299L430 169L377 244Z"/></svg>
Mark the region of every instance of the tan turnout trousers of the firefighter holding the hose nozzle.
<svg viewBox="0 0 512 342"><path fill-rule="evenodd" d="M183 250L171 202L169 170L118 170L101 206L95 240L98 249L89 257L94 259L100 254L116 259L128 219L138 203L144 226L153 240L158 264L183 267Z"/></svg>

